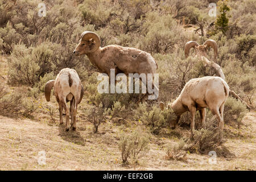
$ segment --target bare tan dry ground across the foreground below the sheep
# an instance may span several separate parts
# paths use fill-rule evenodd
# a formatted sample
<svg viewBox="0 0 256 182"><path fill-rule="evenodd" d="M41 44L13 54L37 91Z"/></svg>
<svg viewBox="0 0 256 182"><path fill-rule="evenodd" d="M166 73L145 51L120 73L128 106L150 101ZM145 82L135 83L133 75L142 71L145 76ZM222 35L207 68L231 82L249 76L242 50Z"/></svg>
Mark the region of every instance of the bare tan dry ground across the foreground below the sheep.
<svg viewBox="0 0 256 182"><path fill-rule="evenodd" d="M0 59L0 75L7 77L6 60ZM188 136L189 130L178 128L158 136L151 135L150 151L136 166L123 166L118 150L121 130L130 132L138 123L127 124L107 120L93 133L93 125L85 121L81 107L88 106L86 98L79 105L77 131L64 131L59 126L55 98L51 105L53 122L44 110L43 94L35 101L38 113L34 119L9 118L0 115L0 170L255 170L256 112L243 118L240 129L225 125L226 142L217 148L216 164L209 164L210 156L187 154L183 160L166 160L166 148ZM127 127L129 125L129 127ZM39 165L40 152L46 153L46 164Z"/></svg>

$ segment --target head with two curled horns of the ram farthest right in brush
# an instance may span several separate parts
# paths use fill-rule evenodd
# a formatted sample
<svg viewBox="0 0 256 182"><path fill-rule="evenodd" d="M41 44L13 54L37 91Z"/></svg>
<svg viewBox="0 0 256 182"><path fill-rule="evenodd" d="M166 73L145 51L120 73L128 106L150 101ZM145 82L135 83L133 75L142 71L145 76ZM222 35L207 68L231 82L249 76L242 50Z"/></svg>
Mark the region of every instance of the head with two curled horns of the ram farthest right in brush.
<svg viewBox="0 0 256 182"><path fill-rule="evenodd" d="M217 59L218 56L218 46L215 40L209 39L207 41L204 42L203 45L199 45L197 42L195 41L189 41L185 44L185 56L188 57L189 55L189 50L191 48L194 48L196 50L196 53L199 53L199 55L203 55L206 56L207 54L207 49L208 47L212 47L213 51L214 51L214 59Z"/></svg>

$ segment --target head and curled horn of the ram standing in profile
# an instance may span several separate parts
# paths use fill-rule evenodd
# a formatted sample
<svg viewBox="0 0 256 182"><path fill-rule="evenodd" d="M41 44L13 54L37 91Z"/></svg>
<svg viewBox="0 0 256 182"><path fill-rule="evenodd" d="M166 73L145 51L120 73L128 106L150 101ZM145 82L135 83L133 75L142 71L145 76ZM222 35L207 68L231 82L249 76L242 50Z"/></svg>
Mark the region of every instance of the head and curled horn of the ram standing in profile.
<svg viewBox="0 0 256 182"><path fill-rule="evenodd" d="M76 56L85 55L90 52L95 52L101 46L100 37L90 31L82 32L80 42L73 53Z"/></svg>

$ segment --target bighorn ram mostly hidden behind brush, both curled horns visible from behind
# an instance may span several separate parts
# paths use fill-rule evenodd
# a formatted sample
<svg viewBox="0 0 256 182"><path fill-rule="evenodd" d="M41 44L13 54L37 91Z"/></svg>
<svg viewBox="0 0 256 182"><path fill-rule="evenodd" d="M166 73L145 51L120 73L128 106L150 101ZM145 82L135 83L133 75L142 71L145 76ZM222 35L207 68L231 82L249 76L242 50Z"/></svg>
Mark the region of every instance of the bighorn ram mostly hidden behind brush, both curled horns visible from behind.
<svg viewBox="0 0 256 182"><path fill-rule="evenodd" d="M217 47L217 43L215 42L215 40L207 40L204 42L203 45L199 45L197 42L195 41L189 41L185 44L185 48L184 48L184 51L185 51L185 57L188 57L189 55L189 50L191 48L194 48L196 50L196 54L197 56L199 57L199 59L203 60L204 63L212 68L215 72L216 72L216 75L215 76L219 76L221 77L223 80L225 80L225 76L224 76L224 73L222 72L222 69L220 67L220 65L214 63L213 61L209 61L207 59L207 48L208 47L212 47L213 50L214 50L214 60L217 59L217 56L218 56L218 47Z"/></svg>

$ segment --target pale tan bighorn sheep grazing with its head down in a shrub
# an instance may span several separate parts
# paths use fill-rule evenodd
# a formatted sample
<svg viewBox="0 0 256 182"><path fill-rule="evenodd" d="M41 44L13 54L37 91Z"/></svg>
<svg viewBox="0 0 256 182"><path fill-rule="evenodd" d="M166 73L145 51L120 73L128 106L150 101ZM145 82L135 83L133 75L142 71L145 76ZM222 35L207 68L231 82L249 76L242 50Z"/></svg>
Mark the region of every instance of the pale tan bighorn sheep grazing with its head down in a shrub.
<svg viewBox="0 0 256 182"><path fill-rule="evenodd" d="M207 76L189 80L182 89L179 97L170 105L174 110L177 119L170 121L172 129L175 129L179 122L180 115L185 111L191 113L191 137L195 130L196 110L200 111L200 118L205 127L205 107L208 107L214 115L217 115L218 125L221 130L224 127L223 111L226 99L229 96L229 86L220 77ZM160 109L164 109L163 102L160 102Z"/></svg>

